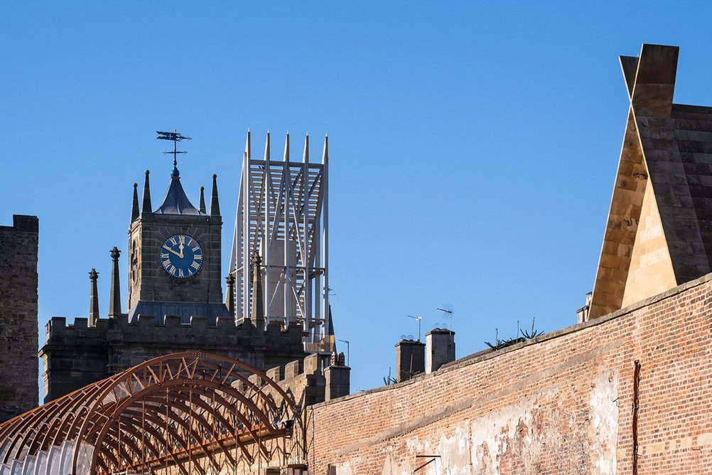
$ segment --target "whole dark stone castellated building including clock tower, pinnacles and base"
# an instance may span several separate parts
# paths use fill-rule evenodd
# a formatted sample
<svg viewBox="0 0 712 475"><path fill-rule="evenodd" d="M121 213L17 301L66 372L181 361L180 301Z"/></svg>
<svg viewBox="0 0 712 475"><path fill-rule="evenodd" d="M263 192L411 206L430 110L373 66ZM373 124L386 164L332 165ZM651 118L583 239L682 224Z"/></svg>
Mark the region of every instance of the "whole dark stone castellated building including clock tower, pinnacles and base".
<svg viewBox="0 0 712 475"><path fill-rule="evenodd" d="M150 357L179 351L229 355L261 370L303 358L302 325L265 325L261 312L238 322L225 305L221 229L215 175L209 210L203 189L198 208L189 201L175 167L167 193L154 210L146 172L141 209L134 184L127 313L121 311L120 252L114 248L109 318L95 315L92 285L89 318L68 325L65 318L54 317L47 324L46 344L40 350L45 402ZM90 278L94 283L96 276L90 273ZM254 293L253 299L261 298L261 291Z"/></svg>

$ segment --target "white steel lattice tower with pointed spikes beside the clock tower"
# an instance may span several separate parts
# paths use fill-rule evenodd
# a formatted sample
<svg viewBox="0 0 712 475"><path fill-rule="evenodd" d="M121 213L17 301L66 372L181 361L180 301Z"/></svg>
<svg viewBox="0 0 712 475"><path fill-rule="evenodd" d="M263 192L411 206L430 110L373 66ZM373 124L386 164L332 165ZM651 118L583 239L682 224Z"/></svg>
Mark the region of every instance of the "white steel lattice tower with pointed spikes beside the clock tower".
<svg viewBox="0 0 712 475"><path fill-rule="evenodd" d="M333 351L329 308L328 137L320 163L309 161L309 136L302 160L271 160L267 132L262 159L251 156L250 132L242 163L230 273L235 278L235 317L250 318L253 272L259 276L265 323L303 325L305 349ZM259 261L257 260L257 261Z"/></svg>

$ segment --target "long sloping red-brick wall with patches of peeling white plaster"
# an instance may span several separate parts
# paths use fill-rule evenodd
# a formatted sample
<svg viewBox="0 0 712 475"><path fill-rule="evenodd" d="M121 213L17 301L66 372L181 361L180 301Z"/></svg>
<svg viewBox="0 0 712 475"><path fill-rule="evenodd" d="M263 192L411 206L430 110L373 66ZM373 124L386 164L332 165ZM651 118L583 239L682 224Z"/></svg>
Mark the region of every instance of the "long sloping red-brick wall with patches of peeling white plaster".
<svg viewBox="0 0 712 475"><path fill-rule="evenodd" d="M712 274L604 318L313 406L310 473L712 473ZM430 464L425 455L436 455Z"/></svg>

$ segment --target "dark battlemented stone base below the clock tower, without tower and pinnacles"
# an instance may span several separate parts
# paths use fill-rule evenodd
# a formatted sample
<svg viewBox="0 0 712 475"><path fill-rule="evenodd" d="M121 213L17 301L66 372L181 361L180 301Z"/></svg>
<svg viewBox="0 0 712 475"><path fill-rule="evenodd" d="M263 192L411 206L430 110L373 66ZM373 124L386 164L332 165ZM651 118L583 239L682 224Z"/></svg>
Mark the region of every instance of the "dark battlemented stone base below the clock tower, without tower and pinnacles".
<svg viewBox="0 0 712 475"><path fill-rule="evenodd" d="M95 326L87 318L68 324L53 317L46 325L47 343L40 351L44 365L44 400L51 401L90 382L101 380L152 357L183 351L205 351L237 358L260 370L284 367L306 356L300 325L279 324L258 330L248 320L236 325L233 318L180 315L127 315L100 318Z"/></svg>

